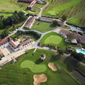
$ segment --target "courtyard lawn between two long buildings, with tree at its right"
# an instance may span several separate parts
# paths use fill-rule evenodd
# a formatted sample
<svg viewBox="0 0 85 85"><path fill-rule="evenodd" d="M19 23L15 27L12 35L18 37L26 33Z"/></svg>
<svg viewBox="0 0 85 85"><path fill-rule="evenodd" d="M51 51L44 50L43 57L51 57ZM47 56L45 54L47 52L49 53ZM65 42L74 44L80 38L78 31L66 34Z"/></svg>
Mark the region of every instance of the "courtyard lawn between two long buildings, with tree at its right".
<svg viewBox="0 0 85 85"><path fill-rule="evenodd" d="M52 23L41 22L41 21L36 21L32 27L33 30L38 30L41 32L47 32L55 28L57 28L57 26L54 26Z"/></svg>

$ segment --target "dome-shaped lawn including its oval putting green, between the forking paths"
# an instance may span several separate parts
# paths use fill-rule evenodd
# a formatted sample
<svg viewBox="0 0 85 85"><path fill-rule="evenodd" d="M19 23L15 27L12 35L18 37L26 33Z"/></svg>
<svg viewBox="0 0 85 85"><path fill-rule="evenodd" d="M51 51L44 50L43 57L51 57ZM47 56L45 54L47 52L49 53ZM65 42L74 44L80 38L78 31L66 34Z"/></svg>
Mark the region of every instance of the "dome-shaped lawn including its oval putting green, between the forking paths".
<svg viewBox="0 0 85 85"><path fill-rule="evenodd" d="M65 39L55 32L50 32L50 33L46 34L41 39L40 43L44 44L44 45L49 44L49 45L59 46L63 49L66 49L66 47L72 46L71 44L66 43ZM73 45L73 46L76 46L76 45Z"/></svg>

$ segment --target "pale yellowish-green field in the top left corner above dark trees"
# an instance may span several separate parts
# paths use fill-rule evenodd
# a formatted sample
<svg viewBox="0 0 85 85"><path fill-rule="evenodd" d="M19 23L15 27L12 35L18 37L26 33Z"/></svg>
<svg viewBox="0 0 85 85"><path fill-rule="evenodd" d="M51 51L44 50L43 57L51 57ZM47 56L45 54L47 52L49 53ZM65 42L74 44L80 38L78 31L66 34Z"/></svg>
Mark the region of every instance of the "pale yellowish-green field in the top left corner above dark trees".
<svg viewBox="0 0 85 85"><path fill-rule="evenodd" d="M29 3L20 3L18 0L0 0L0 11L12 12L15 10L24 10Z"/></svg>

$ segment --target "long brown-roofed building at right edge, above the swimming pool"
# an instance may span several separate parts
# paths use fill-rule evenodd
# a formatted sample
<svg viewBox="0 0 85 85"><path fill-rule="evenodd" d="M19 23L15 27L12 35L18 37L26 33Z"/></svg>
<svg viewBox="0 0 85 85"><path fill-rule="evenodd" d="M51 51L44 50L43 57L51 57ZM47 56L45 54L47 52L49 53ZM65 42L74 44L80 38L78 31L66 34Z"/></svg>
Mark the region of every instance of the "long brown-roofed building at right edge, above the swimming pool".
<svg viewBox="0 0 85 85"><path fill-rule="evenodd" d="M75 32L71 32L71 31L68 31L68 30L65 30L65 29L61 29L59 34L61 36L63 36L64 38L67 38L68 34L72 34L74 39L77 40L77 42L79 43L82 43L82 44L85 44L85 36L82 36L78 33L75 33ZM75 41L75 40L74 40Z"/></svg>

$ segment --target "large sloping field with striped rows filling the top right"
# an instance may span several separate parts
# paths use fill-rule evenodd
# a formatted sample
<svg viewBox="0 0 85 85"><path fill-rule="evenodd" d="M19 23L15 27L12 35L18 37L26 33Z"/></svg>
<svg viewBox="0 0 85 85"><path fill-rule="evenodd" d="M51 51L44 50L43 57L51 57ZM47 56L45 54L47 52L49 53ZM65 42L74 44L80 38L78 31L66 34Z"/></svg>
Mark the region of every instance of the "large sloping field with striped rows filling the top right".
<svg viewBox="0 0 85 85"><path fill-rule="evenodd" d="M49 5L43 10L44 16L79 18L78 26L85 27L85 0L47 0Z"/></svg>

